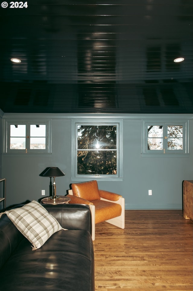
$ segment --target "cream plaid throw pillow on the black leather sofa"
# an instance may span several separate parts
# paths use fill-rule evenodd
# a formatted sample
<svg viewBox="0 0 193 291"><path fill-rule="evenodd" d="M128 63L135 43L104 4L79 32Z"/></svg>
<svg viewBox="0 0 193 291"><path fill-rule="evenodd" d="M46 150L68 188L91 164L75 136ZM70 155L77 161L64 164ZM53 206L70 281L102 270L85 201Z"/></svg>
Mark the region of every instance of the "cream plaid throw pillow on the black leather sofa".
<svg viewBox="0 0 193 291"><path fill-rule="evenodd" d="M32 250L39 249L53 233L63 229L55 217L35 200L4 213L32 243Z"/></svg>

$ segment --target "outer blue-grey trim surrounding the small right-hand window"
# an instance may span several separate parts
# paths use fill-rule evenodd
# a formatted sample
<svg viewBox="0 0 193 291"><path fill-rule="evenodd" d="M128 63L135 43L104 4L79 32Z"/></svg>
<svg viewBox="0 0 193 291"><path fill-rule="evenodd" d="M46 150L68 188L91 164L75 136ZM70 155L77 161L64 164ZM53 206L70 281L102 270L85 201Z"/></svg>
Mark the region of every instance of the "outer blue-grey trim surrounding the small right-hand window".
<svg viewBox="0 0 193 291"><path fill-rule="evenodd" d="M149 150L147 151L147 136L146 136L146 126L147 125L182 125L183 126L183 141L184 141L184 150ZM171 119L162 119L162 120L142 120L142 143L141 143L141 156L142 157L184 157L189 155L188 147L188 120L171 120ZM185 131L185 135L184 135Z"/></svg>

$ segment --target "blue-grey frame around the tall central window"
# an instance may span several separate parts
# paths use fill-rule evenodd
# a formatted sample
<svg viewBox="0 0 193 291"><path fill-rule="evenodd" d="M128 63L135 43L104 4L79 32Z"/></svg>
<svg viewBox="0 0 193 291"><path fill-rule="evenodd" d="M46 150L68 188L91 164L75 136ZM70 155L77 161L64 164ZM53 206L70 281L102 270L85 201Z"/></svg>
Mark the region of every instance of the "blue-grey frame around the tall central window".
<svg viewBox="0 0 193 291"><path fill-rule="evenodd" d="M78 125L116 125L117 135L117 174L77 174L77 150L78 150ZM114 181L123 179L122 177L122 120L108 119L105 121L99 119L77 119L72 120L72 143L71 143L71 180L73 181L87 181L87 180L106 180ZM111 149L112 150L112 149Z"/></svg>

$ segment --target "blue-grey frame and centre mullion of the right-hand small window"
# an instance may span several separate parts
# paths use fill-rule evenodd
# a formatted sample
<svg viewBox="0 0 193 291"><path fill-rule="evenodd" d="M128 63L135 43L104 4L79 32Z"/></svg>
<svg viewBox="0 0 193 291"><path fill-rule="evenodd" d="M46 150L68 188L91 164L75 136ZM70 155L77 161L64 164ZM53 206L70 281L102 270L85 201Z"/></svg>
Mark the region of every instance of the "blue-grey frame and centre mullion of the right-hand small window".
<svg viewBox="0 0 193 291"><path fill-rule="evenodd" d="M163 126L163 150L148 150L147 147L147 127L148 125ZM169 150L167 148L167 127L168 126L182 126L183 129L183 149L182 150ZM188 120L142 120L142 156L184 156L188 154Z"/></svg>

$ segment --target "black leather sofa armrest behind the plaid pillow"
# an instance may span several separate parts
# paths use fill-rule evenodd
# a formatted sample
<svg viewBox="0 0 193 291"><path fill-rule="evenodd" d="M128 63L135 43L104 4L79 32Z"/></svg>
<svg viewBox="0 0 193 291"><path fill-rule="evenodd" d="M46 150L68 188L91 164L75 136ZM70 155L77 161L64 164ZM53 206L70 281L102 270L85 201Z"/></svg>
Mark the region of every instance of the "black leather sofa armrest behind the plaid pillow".
<svg viewBox="0 0 193 291"><path fill-rule="evenodd" d="M86 204L42 204L63 228L86 230L92 234L90 207Z"/></svg>

